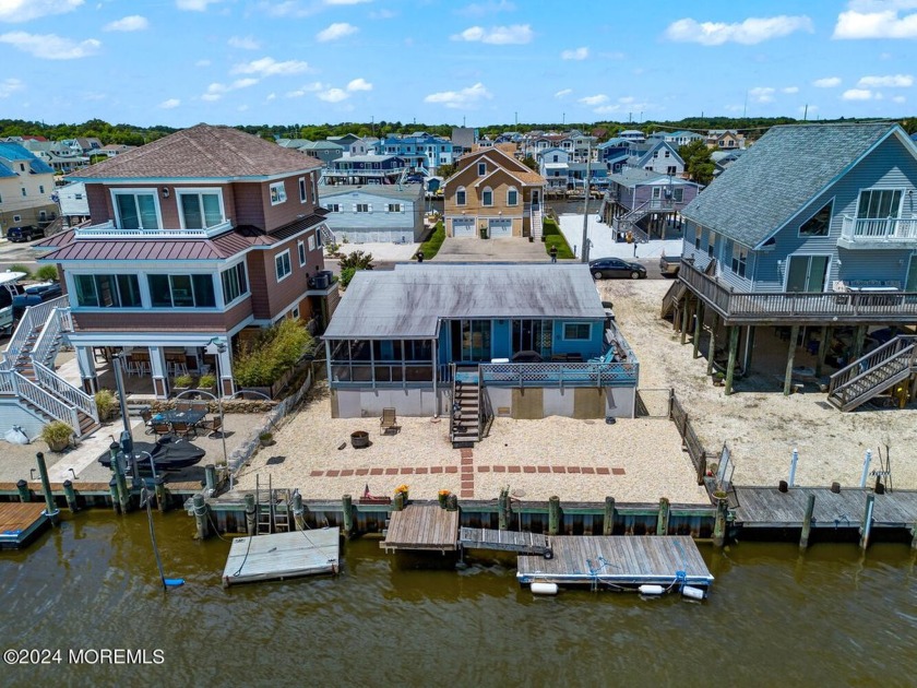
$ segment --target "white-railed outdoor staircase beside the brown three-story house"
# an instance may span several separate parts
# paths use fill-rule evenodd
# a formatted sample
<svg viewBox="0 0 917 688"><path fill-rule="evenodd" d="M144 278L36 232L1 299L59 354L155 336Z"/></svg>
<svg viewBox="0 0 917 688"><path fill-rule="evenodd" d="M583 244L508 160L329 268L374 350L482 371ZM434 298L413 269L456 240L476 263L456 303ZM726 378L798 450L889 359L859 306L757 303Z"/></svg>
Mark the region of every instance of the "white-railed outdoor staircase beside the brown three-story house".
<svg viewBox="0 0 917 688"><path fill-rule="evenodd" d="M53 371L72 331L66 296L27 308L0 361L0 393L48 423L66 423L82 439L99 427L95 399Z"/></svg>

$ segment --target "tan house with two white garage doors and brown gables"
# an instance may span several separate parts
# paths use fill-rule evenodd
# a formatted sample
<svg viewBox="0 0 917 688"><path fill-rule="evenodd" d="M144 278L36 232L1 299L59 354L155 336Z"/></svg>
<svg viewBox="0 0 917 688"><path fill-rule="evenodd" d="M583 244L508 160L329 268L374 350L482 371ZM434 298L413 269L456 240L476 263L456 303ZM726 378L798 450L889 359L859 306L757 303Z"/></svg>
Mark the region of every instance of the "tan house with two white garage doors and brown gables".
<svg viewBox="0 0 917 688"><path fill-rule="evenodd" d="M457 166L443 185L446 236L541 236L547 179L497 147L464 155Z"/></svg>

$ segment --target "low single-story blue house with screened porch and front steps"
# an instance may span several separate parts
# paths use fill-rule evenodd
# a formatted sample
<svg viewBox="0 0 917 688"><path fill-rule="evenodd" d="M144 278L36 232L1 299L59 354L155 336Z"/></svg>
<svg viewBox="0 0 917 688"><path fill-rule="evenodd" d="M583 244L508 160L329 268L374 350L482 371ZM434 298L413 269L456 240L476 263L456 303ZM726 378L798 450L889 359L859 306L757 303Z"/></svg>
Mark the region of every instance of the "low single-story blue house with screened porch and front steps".
<svg viewBox="0 0 917 688"><path fill-rule="evenodd" d="M360 271L323 335L334 417L632 417L633 352L582 264ZM457 441L457 440L456 440Z"/></svg>

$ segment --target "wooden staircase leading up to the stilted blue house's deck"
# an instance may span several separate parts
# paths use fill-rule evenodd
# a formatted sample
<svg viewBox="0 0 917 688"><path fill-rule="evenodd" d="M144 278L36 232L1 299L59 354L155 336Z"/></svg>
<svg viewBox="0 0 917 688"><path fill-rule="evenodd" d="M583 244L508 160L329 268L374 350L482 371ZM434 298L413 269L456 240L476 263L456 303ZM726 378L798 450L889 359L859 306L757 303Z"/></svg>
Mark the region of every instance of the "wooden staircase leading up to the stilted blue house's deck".
<svg viewBox="0 0 917 688"><path fill-rule="evenodd" d="M831 376L827 401L853 411L917 371L917 336L898 335Z"/></svg>

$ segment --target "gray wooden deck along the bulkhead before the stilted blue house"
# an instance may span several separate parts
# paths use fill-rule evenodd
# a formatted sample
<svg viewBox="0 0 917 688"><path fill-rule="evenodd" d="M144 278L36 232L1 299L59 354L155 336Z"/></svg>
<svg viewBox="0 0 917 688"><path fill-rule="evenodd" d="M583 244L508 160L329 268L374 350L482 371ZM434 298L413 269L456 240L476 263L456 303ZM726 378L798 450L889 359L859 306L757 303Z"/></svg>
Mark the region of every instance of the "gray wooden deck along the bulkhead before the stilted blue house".
<svg viewBox="0 0 917 688"><path fill-rule="evenodd" d="M860 488L832 493L827 487L736 487L735 524L743 527L802 527L809 495L815 496L812 527L859 527L866 511ZM876 495L872 527L913 527L917 523L917 490Z"/></svg>

